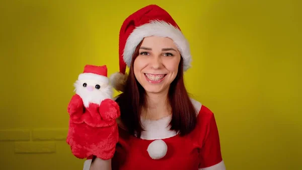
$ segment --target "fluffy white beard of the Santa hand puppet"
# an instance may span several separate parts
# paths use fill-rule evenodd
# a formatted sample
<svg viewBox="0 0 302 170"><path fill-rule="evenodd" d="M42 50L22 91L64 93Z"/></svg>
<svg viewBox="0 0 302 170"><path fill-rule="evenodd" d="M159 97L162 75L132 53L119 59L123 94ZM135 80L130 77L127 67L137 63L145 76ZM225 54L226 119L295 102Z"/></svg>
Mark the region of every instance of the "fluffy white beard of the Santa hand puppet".
<svg viewBox="0 0 302 170"><path fill-rule="evenodd" d="M88 107L90 103L101 104L105 99L112 99L112 88L110 85L103 89L88 91L86 88L75 89L77 93L83 100L84 106Z"/></svg>

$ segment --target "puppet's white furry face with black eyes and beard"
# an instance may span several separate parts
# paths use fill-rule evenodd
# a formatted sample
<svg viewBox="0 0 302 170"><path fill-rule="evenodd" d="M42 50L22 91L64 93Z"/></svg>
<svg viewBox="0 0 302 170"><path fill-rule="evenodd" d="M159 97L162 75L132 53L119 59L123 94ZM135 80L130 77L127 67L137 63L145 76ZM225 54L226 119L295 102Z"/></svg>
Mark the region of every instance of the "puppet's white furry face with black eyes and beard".
<svg viewBox="0 0 302 170"><path fill-rule="evenodd" d="M98 80L77 80L74 84L75 93L81 96L84 105L89 103L100 104L107 98L112 98L112 87L108 83Z"/></svg>

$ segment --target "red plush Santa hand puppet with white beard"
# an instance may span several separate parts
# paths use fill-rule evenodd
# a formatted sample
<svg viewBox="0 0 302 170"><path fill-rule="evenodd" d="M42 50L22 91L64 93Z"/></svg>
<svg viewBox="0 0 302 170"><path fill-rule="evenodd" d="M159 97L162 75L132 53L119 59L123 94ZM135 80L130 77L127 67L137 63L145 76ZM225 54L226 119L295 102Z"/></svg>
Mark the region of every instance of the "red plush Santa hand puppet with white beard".
<svg viewBox="0 0 302 170"><path fill-rule="evenodd" d="M74 83L75 94L68 104L69 129L66 142L74 156L95 155L111 159L118 142L118 104L112 99L106 66L86 65Z"/></svg>

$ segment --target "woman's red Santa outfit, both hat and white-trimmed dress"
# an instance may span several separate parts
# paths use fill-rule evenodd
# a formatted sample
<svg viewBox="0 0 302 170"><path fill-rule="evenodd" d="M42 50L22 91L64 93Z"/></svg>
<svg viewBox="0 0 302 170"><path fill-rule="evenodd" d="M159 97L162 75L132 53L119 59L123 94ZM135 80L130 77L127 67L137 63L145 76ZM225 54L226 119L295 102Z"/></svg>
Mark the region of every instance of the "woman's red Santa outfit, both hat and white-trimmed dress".
<svg viewBox="0 0 302 170"><path fill-rule="evenodd" d="M112 85L125 80L137 44L147 36L169 37L174 40L183 58L184 71L190 67L189 43L172 17L156 5L146 6L123 23L119 39L120 72L111 76ZM225 170L220 152L219 135L213 113L191 99L197 110L197 125L186 136L170 130L171 116L157 121L141 120L145 131L140 138L127 133L120 123L119 140L112 158L113 170ZM89 170L92 157L84 163Z"/></svg>

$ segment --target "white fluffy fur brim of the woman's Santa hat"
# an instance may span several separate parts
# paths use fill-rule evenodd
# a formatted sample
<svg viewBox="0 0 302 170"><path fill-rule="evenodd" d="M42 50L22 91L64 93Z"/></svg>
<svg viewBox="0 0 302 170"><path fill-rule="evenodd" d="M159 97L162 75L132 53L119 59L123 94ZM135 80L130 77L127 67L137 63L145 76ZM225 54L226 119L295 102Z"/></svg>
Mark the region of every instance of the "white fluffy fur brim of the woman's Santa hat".
<svg viewBox="0 0 302 170"><path fill-rule="evenodd" d="M159 20L154 20L150 23L136 27L133 32L129 35L123 53L123 59L128 67L130 66L132 54L136 46L144 37L148 36L160 36L171 38L182 55L184 61L184 71L188 70L191 67L192 57L188 40L178 28L165 21Z"/></svg>

